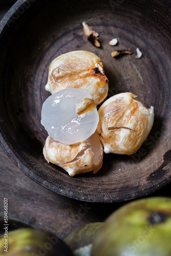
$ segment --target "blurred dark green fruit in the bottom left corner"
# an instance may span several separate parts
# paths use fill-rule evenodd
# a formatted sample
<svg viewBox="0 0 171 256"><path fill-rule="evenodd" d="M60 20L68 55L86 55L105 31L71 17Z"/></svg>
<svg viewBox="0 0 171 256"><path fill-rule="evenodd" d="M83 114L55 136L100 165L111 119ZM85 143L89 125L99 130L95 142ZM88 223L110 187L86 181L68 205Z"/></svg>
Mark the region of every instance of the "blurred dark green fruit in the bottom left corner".
<svg viewBox="0 0 171 256"><path fill-rule="evenodd" d="M56 236L38 229L23 228L8 232L7 238L4 235L0 238L0 256L4 255L72 256L72 253Z"/></svg>

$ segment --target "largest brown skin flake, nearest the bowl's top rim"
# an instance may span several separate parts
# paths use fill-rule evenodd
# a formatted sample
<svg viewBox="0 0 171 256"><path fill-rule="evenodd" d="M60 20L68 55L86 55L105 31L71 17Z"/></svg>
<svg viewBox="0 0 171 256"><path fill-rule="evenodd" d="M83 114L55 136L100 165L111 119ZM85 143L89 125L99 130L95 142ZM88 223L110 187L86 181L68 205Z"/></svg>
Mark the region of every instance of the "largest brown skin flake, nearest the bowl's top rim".
<svg viewBox="0 0 171 256"><path fill-rule="evenodd" d="M100 47L100 42L98 41L99 34L93 30L86 22L82 23L83 31L88 40L91 42L92 45L95 47Z"/></svg>

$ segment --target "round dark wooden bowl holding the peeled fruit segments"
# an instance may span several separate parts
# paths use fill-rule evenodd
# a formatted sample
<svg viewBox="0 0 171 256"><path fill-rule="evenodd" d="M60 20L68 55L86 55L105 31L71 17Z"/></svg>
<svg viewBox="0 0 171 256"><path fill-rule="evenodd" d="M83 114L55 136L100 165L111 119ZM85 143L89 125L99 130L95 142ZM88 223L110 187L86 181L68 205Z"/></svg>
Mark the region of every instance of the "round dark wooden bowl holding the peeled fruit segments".
<svg viewBox="0 0 171 256"><path fill-rule="evenodd" d="M58 194L90 202L124 201L152 193L170 181L170 31L169 1L19 0L0 27L1 146L31 179ZM95 48L83 34L86 20L100 35ZM117 37L117 46L108 42ZM143 56L136 59L136 48ZM131 48L132 55L111 52ZM96 175L71 178L42 155L47 138L40 124L48 68L59 54L94 52L109 78L109 96L138 95L154 106L154 126L132 156L104 154ZM8 179L8 177L7 177Z"/></svg>

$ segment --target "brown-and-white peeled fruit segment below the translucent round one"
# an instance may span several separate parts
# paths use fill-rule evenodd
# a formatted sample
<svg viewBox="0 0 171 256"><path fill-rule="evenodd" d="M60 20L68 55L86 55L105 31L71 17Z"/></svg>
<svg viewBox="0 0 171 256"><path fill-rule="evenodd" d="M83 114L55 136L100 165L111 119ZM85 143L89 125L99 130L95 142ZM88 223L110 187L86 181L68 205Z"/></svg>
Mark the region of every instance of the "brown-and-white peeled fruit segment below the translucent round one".
<svg viewBox="0 0 171 256"><path fill-rule="evenodd" d="M97 173L102 166L103 147L97 132L87 140L72 145L62 144L48 136L44 157L65 169L72 177L92 170Z"/></svg>

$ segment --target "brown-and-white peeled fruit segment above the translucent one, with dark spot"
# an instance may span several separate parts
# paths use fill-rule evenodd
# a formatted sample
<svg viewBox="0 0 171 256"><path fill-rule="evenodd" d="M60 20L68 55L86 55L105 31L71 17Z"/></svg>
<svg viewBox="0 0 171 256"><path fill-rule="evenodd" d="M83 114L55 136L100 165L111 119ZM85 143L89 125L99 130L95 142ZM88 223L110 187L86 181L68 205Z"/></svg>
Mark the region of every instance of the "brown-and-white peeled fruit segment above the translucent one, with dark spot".
<svg viewBox="0 0 171 256"><path fill-rule="evenodd" d="M108 94L108 78L100 58L87 51L73 51L55 58L49 67L45 89L52 94L66 88L89 92L100 104Z"/></svg>

